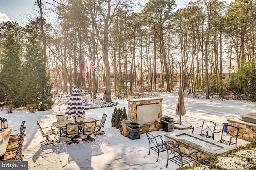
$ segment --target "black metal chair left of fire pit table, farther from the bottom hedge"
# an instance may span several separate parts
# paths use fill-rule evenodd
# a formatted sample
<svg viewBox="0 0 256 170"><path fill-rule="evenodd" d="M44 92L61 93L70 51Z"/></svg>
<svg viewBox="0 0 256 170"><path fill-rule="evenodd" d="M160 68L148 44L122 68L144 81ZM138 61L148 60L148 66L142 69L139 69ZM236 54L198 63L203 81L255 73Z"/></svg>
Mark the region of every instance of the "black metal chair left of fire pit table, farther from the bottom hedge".
<svg viewBox="0 0 256 170"><path fill-rule="evenodd" d="M166 151L166 146L164 144L162 136L161 135L153 136L150 133L146 133L146 135L148 137L148 142L149 142L148 155L150 154L150 150L154 150L157 153L157 159L156 159L156 162L157 162L159 153Z"/></svg>

